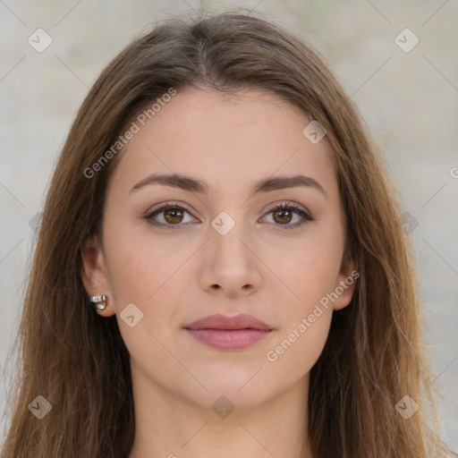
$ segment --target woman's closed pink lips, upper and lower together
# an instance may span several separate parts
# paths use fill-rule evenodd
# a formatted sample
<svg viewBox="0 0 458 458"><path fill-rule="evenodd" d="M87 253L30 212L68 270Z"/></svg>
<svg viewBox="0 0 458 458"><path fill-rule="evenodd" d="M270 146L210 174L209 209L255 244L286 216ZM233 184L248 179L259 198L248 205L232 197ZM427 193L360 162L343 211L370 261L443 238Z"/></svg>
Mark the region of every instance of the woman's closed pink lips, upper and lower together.
<svg viewBox="0 0 458 458"><path fill-rule="evenodd" d="M251 315L210 315L198 319L184 329L201 344L218 350L242 350L258 343L273 329Z"/></svg>

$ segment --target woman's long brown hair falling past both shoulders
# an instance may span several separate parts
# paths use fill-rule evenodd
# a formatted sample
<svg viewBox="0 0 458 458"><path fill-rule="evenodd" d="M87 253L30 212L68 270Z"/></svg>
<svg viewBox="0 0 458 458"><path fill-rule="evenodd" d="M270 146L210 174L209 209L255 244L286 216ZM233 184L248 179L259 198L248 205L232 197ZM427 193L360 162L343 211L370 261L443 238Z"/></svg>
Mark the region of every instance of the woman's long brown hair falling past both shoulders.
<svg viewBox="0 0 458 458"><path fill-rule="evenodd" d="M376 145L351 98L303 38L243 8L174 18L135 39L100 74L55 166L21 315L12 419L1 458L124 457L133 442L129 353L81 282L81 247L101 235L106 185L122 154L98 163L169 89L267 89L327 130L360 278L310 372L309 426L319 458L445 456L421 341L411 242ZM305 126L304 126L305 127ZM114 150L112 150L113 152ZM92 168L91 170L94 170ZM85 173L86 171L86 173ZM406 420L408 394L420 409ZM30 403L52 406L38 420ZM36 407L37 408L37 407Z"/></svg>

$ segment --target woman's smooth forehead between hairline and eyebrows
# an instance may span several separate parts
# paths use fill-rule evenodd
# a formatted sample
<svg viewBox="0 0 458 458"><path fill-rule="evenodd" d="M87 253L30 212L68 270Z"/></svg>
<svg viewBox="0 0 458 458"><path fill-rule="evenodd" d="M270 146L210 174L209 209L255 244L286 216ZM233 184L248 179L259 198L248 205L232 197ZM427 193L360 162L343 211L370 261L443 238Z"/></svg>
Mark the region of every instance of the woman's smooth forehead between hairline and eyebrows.
<svg viewBox="0 0 458 458"><path fill-rule="evenodd" d="M335 181L325 141L302 133L310 116L268 91L186 89L136 123L111 179L127 191L152 173L192 175L225 191L275 174Z"/></svg>

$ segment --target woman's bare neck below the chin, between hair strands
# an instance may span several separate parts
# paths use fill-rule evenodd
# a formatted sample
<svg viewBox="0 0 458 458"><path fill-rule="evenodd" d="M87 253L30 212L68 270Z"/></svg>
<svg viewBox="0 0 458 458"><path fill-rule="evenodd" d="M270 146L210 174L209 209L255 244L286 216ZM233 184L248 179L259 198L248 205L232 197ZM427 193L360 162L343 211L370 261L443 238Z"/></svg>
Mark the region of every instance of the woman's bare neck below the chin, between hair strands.
<svg viewBox="0 0 458 458"><path fill-rule="evenodd" d="M313 458L306 437L309 375L260 405L240 394L233 402L216 394L213 403L190 402L133 375L132 386L129 458Z"/></svg>

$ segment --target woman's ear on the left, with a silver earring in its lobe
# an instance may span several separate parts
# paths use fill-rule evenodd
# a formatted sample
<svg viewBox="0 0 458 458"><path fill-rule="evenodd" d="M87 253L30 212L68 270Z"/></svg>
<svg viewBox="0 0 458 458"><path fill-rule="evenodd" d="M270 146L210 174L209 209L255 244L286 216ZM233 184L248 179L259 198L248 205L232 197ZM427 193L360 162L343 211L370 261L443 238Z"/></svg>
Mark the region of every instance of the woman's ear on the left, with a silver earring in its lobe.
<svg viewBox="0 0 458 458"><path fill-rule="evenodd" d="M110 288L109 273L106 268L104 251L98 242L97 235L87 239L81 249L81 281L89 296L106 295L106 309L97 310L103 317L114 315L113 293ZM92 303L91 303L92 304Z"/></svg>

